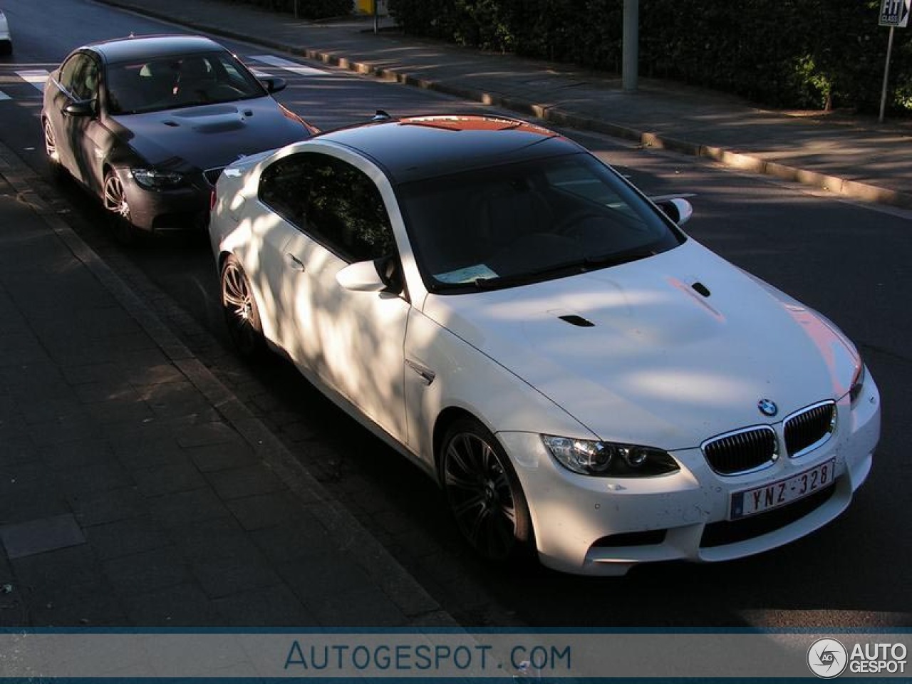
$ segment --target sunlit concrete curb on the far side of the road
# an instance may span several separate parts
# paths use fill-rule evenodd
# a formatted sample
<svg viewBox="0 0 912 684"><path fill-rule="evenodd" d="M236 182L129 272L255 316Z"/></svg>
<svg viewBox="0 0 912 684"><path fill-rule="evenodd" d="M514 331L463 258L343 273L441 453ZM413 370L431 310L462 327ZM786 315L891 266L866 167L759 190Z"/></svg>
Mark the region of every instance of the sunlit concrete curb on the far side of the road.
<svg viewBox="0 0 912 684"><path fill-rule="evenodd" d="M163 21L179 23L182 26L192 26L198 30L206 31L208 33L216 34L219 36L225 36L234 40L242 40L245 42L251 40L251 36L245 36L235 31L229 31L220 26L212 26L202 23L193 25L182 24L174 17L167 16L161 12L156 12L154 9L147 9L145 7L138 8L134 5L130 5L129 3L119 2L119 0L98 1L105 5L113 5L121 9L129 10L130 12L137 12L138 14L161 19ZM732 169L750 171L751 173L771 176L772 178L776 178L781 181L791 181L800 183L802 185L808 185L827 192L833 192L836 195L840 195L849 199L862 200L865 202L878 202L882 204L890 204L904 209L912 209L912 192L898 192L895 190L888 190L886 188L881 188L870 183L851 181L840 176L832 176L825 173L819 173L817 171L810 171L786 164L767 161L755 154L736 152L733 150L727 150L725 148L714 147L711 145L704 145L688 140L668 138L666 136L649 132L647 130L631 129L630 127L623 124L604 121L601 119L592 119L591 117L583 117L573 112L568 112L559 108L548 107L547 105L536 104L527 100L504 98L503 96L485 92L483 90L478 90L476 88L465 88L428 78L418 78L398 69L376 67L369 62L358 62L348 59L347 57L339 57L333 53L324 52L321 50L315 50L306 47L288 46L277 43L275 41L270 41L268 38L257 38L256 40L259 44L265 47L282 50L284 52L298 55L300 57L305 57L306 59L321 62L328 66L347 69L348 71L353 71L363 76L383 78L385 80L395 81L412 88L433 90L445 95L452 95L457 98L470 99L476 102L481 102L482 104L491 105L492 107L510 109L511 111L515 111L523 116L531 116L537 119L543 119L550 123L566 126L569 128L591 130L597 133L609 135L614 138L619 138L621 140L631 140L638 142L644 147L653 148L656 150L669 150L673 152L679 152L680 154L687 154L692 157L704 157L713 161L718 161L725 166L731 167Z"/></svg>

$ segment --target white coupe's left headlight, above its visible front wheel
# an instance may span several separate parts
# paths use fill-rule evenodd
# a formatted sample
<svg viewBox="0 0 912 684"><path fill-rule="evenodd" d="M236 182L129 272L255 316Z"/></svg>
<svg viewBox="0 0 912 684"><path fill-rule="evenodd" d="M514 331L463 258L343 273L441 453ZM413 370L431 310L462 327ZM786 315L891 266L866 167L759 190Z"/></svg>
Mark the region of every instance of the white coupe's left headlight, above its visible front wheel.
<svg viewBox="0 0 912 684"><path fill-rule="evenodd" d="M542 435L545 448L567 470L601 477L651 477L680 470L667 451L636 444Z"/></svg>

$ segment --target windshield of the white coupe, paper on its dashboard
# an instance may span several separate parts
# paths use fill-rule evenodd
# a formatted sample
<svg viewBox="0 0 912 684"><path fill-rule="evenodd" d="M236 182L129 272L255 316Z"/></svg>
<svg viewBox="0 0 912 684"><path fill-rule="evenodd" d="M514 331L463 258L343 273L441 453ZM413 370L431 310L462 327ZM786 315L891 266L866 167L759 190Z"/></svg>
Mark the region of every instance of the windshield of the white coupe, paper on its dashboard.
<svg viewBox="0 0 912 684"><path fill-rule="evenodd" d="M685 239L585 152L410 182L399 198L422 277L435 292L574 275Z"/></svg>

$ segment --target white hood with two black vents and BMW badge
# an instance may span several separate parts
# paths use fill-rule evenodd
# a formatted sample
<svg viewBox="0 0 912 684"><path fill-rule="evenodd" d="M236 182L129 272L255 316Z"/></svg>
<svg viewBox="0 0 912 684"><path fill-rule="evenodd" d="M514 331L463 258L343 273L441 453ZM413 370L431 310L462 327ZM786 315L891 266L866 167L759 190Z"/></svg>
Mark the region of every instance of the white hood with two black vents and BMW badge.
<svg viewBox="0 0 912 684"><path fill-rule="evenodd" d="M600 439L668 451L842 397L859 362L813 310L693 240L589 274L429 295L423 311Z"/></svg>

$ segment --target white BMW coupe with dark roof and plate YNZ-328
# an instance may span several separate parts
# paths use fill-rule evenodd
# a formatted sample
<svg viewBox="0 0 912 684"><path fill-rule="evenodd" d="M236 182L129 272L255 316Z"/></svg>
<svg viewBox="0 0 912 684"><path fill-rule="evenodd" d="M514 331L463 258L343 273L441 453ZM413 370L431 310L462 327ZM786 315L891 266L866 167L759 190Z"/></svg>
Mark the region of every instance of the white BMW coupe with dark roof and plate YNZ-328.
<svg viewBox="0 0 912 684"><path fill-rule="evenodd" d="M756 554L871 468L852 342L551 130L378 117L235 162L213 202L241 353L285 354L419 463L489 559Z"/></svg>

